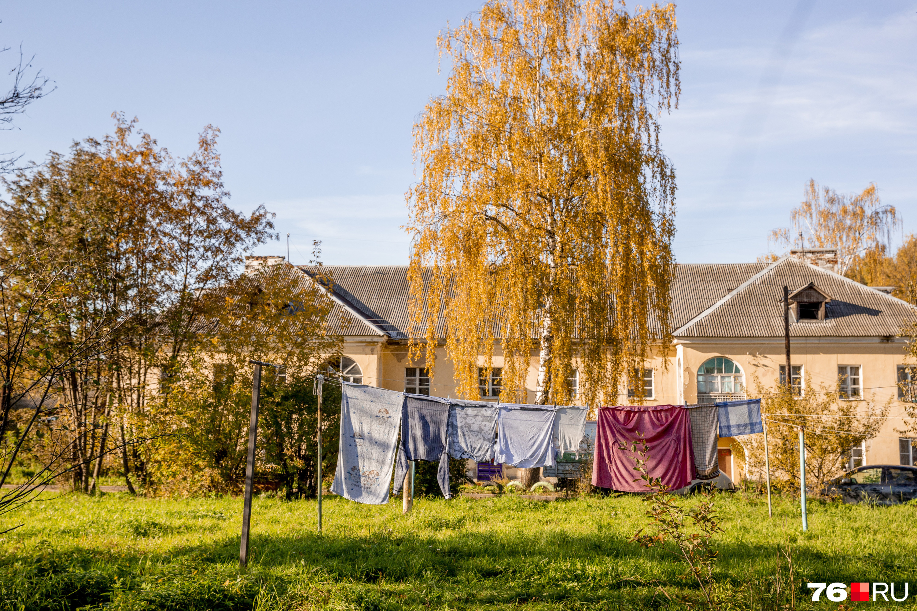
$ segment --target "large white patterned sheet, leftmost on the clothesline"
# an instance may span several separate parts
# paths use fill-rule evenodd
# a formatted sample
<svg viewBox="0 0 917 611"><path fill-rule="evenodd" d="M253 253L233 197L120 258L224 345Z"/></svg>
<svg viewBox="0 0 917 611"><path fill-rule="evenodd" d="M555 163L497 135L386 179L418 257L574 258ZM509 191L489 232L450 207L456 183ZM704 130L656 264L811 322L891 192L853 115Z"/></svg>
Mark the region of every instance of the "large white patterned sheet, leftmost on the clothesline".
<svg viewBox="0 0 917 611"><path fill-rule="evenodd" d="M331 491L359 503L384 505L398 445L404 394L341 384L340 440Z"/></svg>

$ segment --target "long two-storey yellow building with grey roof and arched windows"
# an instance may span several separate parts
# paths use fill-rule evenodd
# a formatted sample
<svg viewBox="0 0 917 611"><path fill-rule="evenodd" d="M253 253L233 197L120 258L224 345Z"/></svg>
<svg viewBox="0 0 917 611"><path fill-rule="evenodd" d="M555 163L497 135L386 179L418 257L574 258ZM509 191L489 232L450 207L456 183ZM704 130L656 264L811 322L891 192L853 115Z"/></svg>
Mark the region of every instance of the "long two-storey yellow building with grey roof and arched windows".
<svg viewBox="0 0 917 611"><path fill-rule="evenodd" d="M263 258L263 257L259 257ZM702 403L742 397L746 387L775 385L785 373L783 288L790 292L790 362L794 385L842 382L845 400L892 401L878 436L851 450L859 464L915 464L911 442L896 429L912 395L904 339L898 337L915 308L834 273L834 251L792 251L773 263L679 265L672 290L674 341L668 367L661 357L646 366L646 403ZM307 267L305 273L311 273ZM455 395L451 363L441 352L434 377L408 359L407 267L328 266L331 297L344 323L346 379L397 391L440 397ZM442 350L442 349L441 349ZM481 366L483 366L481 358ZM497 347L491 379L481 380L481 398L499 400ZM526 383L534 401L537 355ZM578 380L571 383L576 386ZM629 404L623 391L618 405ZM732 440L721 439L721 468L734 477ZM513 475L512 472L509 475Z"/></svg>

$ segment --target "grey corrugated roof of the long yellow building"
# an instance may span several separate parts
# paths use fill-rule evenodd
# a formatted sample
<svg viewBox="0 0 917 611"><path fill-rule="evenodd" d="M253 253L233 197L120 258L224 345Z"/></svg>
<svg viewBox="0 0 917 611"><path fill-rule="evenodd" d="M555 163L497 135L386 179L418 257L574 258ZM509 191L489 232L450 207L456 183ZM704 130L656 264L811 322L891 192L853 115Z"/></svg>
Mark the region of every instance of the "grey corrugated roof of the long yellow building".
<svg viewBox="0 0 917 611"><path fill-rule="evenodd" d="M315 275L313 267L300 269ZM324 271L333 278L337 333L408 337L407 266L325 266ZM832 297L827 318L792 324L792 336L893 336L917 313L906 301L790 256L770 264L680 264L671 294L674 335L782 337L783 287L791 293L810 282ZM442 336L441 320L438 327Z"/></svg>

